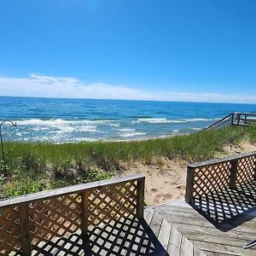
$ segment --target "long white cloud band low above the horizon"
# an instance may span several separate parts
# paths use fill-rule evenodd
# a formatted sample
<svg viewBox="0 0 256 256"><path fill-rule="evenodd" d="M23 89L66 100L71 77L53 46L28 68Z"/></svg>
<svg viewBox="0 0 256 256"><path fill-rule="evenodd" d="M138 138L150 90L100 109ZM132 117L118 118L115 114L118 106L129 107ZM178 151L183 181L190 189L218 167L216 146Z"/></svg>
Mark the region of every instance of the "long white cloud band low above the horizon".
<svg viewBox="0 0 256 256"><path fill-rule="evenodd" d="M256 96L139 90L113 84L84 84L76 78L33 73L27 78L0 76L0 95L181 102L256 102Z"/></svg>

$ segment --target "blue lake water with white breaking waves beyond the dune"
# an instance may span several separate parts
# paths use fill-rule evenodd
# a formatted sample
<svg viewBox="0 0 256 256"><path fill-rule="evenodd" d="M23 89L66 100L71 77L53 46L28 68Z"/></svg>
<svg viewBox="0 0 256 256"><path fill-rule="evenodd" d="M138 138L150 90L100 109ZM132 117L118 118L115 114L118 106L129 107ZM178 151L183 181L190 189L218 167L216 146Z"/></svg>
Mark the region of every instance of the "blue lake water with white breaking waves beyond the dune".
<svg viewBox="0 0 256 256"><path fill-rule="evenodd" d="M3 137L20 142L87 142L164 137L199 131L231 112L256 105L1 97Z"/></svg>

